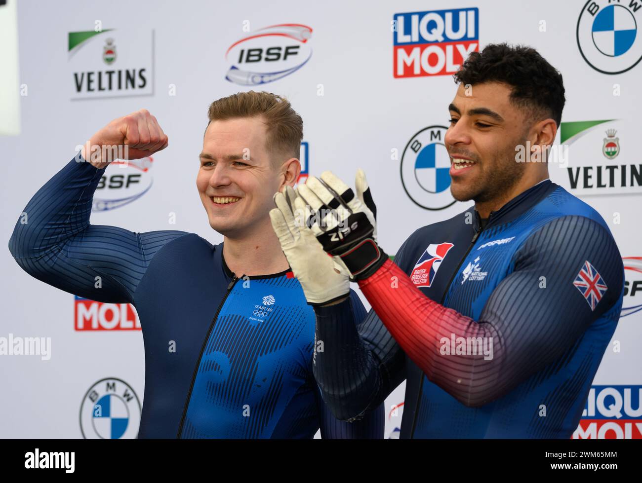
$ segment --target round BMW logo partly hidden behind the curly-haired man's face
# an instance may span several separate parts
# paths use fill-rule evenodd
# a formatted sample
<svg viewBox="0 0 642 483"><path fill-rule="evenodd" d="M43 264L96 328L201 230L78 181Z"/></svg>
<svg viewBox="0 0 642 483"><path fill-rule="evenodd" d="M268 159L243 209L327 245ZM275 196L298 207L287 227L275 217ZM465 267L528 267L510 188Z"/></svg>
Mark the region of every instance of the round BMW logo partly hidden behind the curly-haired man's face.
<svg viewBox="0 0 642 483"><path fill-rule="evenodd" d="M450 192L450 157L444 144L447 129L422 129L408 141L401 156L403 189L426 210L443 210L456 201Z"/></svg>

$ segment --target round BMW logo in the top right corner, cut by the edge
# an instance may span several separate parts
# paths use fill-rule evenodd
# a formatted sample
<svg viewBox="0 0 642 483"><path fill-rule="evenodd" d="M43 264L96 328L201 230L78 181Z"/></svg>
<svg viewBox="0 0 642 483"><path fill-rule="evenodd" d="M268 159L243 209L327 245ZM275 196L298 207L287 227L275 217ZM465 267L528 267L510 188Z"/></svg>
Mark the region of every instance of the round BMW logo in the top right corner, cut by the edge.
<svg viewBox="0 0 642 483"><path fill-rule="evenodd" d="M603 74L621 74L642 59L639 0L614 3L589 0L577 21L577 46L593 69Z"/></svg>

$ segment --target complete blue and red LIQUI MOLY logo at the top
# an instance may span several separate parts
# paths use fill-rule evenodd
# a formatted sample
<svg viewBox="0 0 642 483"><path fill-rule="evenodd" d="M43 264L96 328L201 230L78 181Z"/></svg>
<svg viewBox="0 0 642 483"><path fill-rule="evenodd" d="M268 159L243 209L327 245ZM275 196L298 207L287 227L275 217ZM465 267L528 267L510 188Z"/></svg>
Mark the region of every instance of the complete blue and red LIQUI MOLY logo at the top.
<svg viewBox="0 0 642 483"><path fill-rule="evenodd" d="M454 74L479 51L477 8L395 13L392 30L395 77Z"/></svg>

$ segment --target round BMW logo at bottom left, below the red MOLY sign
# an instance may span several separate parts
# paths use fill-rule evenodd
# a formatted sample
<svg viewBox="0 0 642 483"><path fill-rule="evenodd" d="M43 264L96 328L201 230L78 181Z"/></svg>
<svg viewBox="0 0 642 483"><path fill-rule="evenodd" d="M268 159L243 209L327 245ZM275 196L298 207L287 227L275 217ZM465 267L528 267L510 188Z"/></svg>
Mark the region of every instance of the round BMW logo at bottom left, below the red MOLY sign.
<svg viewBox="0 0 642 483"><path fill-rule="evenodd" d="M121 379L99 380L80 405L80 432L85 439L135 439L140 423L141 402Z"/></svg>

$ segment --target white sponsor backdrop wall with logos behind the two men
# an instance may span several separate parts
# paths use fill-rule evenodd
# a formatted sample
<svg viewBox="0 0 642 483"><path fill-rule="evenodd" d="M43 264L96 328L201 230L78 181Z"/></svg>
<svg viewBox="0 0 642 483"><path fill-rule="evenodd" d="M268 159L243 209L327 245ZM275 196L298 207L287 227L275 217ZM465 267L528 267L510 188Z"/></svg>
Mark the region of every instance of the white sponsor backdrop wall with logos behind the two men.
<svg viewBox="0 0 642 483"><path fill-rule="evenodd" d="M395 253L419 226L471 205L449 192L451 74L486 44L528 44L566 86L551 180L600 212L626 268L620 323L574 437L642 437L642 158L635 148L642 1L278 5L18 2L19 83L11 89L20 86L21 121L3 101L3 123L13 121L2 131L22 133L0 138L5 243L31 196L89 136L140 108L157 117L170 146L110 167L92 223L184 230L220 242L195 187L207 106L254 89L288 97L302 115L302 179L331 169L351 180L365 169L379 242ZM15 8L0 2L0 21ZM12 48L0 48L3 65ZM417 263L434 273L449 246L427 249ZM48 287L22 272L6 248L0 264L0 437L135 437L144 403L135 309ZM27 337L39 338L41 354L10 355ZM107 423L92 414L101 398L112 408ZM403 399L402 384L386 400L386 437L397 437Z"/></svg>

